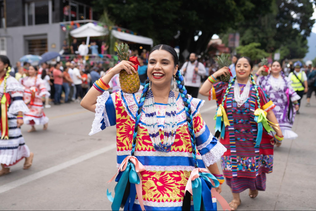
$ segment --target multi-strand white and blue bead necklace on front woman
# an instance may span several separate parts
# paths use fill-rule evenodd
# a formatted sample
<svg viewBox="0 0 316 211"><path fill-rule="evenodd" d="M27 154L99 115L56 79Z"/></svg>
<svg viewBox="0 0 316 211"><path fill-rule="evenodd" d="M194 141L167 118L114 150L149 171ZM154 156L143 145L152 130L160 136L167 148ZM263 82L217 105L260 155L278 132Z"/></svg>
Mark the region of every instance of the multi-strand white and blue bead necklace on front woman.
<svg viewBox="0 0 316 211"><path fill-rule="evenodd" d="M171 146L173 145L173 142L175 140L175 133L177 130L176 101L177 100L175 98L174 92L170 90L166 106L165 121L163 125L164 137L161 140L159 135L158 117L155 110L155 98L153 92L151 90L148 91L144 102L144 112L146 115L145 120L150 140L152 141L156 151L171 151Z"/></svg>

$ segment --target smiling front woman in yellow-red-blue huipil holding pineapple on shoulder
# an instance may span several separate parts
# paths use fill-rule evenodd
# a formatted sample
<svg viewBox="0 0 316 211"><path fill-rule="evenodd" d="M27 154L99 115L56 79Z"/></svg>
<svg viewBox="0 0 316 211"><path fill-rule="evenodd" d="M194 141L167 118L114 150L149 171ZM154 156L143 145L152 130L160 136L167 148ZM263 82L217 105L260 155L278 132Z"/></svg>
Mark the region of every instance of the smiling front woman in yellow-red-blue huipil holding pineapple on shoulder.
<svg viewBox="0 0 316 211"><path fill-rule="evenodd" d="M226 201L219 195L223 177L216 162L226 148L201 117L204 101L187 94L177 53L167 45L155 46L149 53L149 79L143 92L137 92L137 58L127 52L127 46L118 47L121 62L81 102L95 112L90 135L117 128L118 184L114 198L107 192L112 210L217 210L216 198ZM118 73L138 87L128 90L121 81L122 91L110 95L107 84ZM170 90L171 80L180 93ZM227 202L222 206L229 209Z"/></svg>

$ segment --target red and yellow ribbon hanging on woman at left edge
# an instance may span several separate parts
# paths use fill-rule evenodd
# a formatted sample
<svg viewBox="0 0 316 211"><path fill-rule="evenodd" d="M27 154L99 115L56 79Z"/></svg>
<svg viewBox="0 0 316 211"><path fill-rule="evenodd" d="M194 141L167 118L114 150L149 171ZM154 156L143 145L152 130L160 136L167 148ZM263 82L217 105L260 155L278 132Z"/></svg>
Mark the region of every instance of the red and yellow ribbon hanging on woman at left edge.
<svg viewBox="0 0 316 211"><path fill-rule="evenodd" d="M1 139L9 139L9 125L8 125L8 108L11 103L11 96L9 93L3 93L1 98Z"/></svg>

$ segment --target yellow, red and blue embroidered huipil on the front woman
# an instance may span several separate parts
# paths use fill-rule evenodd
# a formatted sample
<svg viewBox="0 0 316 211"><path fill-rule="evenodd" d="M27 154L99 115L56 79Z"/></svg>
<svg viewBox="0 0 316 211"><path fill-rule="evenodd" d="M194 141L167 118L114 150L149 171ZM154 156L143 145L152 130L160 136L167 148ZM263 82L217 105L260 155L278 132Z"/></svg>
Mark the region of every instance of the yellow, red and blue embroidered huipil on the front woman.
<svg viewBox="0 0 316 211"><path fill-rule="evenodd" d="M111 95L104 92L97 99L95 119L89 134L92 135L108 126L116 125L118 167L126 156L131 155L135 114L138 110L140 96L141 92L126 94L120 91ZM134 155L146 169L140 172L143 187L142 200L146 210L182 210L185 185L190 172L194 169L184 104L179 96L176 101L178 125L171 152L155 151L146 128L144 111L140 117ZM201 168L216 163L226 151L226 148L217 142L210 133L201 117L199 109L203 104L204 101L199 99L193 98L191 101L198 150L197 162ZM163 137L161 130L163 129L166 106L167 104L155 103L161 138ZM141 210L139 197L136 198L133 210ZM216 199L213 198L213 203L215 202ZM191 208L193 209L192 200Z"/></svg>

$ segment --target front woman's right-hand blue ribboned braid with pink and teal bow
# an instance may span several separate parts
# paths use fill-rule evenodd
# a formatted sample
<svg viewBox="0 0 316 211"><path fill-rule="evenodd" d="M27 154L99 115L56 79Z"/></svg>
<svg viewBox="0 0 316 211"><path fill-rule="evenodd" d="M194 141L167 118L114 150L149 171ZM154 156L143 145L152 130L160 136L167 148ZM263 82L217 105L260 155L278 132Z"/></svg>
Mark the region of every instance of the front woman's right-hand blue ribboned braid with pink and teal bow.
<svg viewBox="0 0 316 211"><path fill-rule="evenodd" d="M230 210L229 205L225 199L214 189L215 187L219 186L219 181L207 169L198 167L196 159L196 140L193 129L193 116L191 112L191 101L184 86L183 76L179 70L177 71L175 78L177 80L180 96L182 97L185 106L186 121L188 123L190 133L192 157L195 167L195 169L191 171L188 183L185 186L185 192L188 191L190 194L185 194L183 198L182 210L191 209L191 195L193 195L194 210L200 210L201 207L203 210L215 210L212 203L212 195L215 196L221 203L223 210Z"/></svg>

